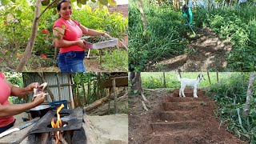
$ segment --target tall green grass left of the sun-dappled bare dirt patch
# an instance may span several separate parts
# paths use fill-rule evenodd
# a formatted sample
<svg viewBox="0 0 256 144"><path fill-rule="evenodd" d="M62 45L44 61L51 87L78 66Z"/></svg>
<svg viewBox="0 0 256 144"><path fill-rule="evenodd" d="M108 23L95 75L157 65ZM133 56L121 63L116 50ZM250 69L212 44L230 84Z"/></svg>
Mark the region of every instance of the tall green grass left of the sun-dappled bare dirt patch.
<svg viewBox="0 0 256 144"><path fill-rule="evenodd" d="M147 26L144 30L138 6L129 2L129 66L130 70L143 70L147 63L184 53L186 42L180 13L171 6L158 6L143 1Z"/></svg>

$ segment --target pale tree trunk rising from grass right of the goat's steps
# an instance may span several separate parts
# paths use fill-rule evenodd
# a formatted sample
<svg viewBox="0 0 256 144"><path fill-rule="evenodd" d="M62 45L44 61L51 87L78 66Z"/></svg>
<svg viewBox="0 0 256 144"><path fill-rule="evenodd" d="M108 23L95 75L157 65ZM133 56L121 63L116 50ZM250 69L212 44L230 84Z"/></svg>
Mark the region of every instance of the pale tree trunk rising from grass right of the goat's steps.
<svg viewBox="0 0 256 144"><path fill-rule="evenodd" d="M252 94L254 92L254 79L255 79L255 73L250 73L249 78L249 84L247 89L247 96L246 96L246 105L243 107L243 117L246 118L250 114L250 98L252 97Z"/></svg>

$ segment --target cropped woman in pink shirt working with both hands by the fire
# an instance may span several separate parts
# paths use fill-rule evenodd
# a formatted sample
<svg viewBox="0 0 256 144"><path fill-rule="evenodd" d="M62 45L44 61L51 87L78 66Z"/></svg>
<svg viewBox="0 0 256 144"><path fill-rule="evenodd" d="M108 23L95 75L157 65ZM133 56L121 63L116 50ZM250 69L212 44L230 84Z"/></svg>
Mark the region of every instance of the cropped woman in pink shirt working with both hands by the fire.
<svg viewBox="0 0 256 144"><path fill-rule="evenodd" d="M4 74L0 71L0 134L14 126L13 115L21 114L25 110L29 110L40 105L44 102L46 94L38 94L37 97L34 98L33 102L24 104L10 104L10 102L8 102L8 97L10 95L22 97L25 94L33 92L34 88L38 86L38 82L34 82L25 88L19 88L7 81Z"/></svg>

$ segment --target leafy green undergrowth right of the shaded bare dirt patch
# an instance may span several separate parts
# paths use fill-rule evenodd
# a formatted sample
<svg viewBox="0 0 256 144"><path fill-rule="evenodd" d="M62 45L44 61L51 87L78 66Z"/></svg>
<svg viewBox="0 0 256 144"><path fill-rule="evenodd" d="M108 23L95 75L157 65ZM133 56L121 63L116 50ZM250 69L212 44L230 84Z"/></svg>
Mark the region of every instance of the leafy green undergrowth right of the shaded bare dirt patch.
<svg viewBox="0 0 256 144"><path fill-rule="evenodd" d="M197 26L209 26L220 38L230 39L233 49L227 55L233 71L256 70L255 6L232 6L223 9L198 8L194 14Z"/></svg>

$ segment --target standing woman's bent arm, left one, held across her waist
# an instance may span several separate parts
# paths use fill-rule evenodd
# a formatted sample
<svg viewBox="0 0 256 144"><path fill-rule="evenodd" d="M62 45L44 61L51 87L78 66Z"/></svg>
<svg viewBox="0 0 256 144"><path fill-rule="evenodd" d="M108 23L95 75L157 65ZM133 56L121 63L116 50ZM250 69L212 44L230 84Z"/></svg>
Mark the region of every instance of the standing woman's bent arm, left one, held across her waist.
<svg viewBox="0 0 256 144"><path fill-rule="evenodd" d="M55 47L68 47L68 46L80 46L84 49L86 49L85 44L82 42L82 40L79 41L67 41L65 39L63 39L65 30L60 28L60 27L55 27L53 30L53 34L54 34L54 46Z"/></svg>

